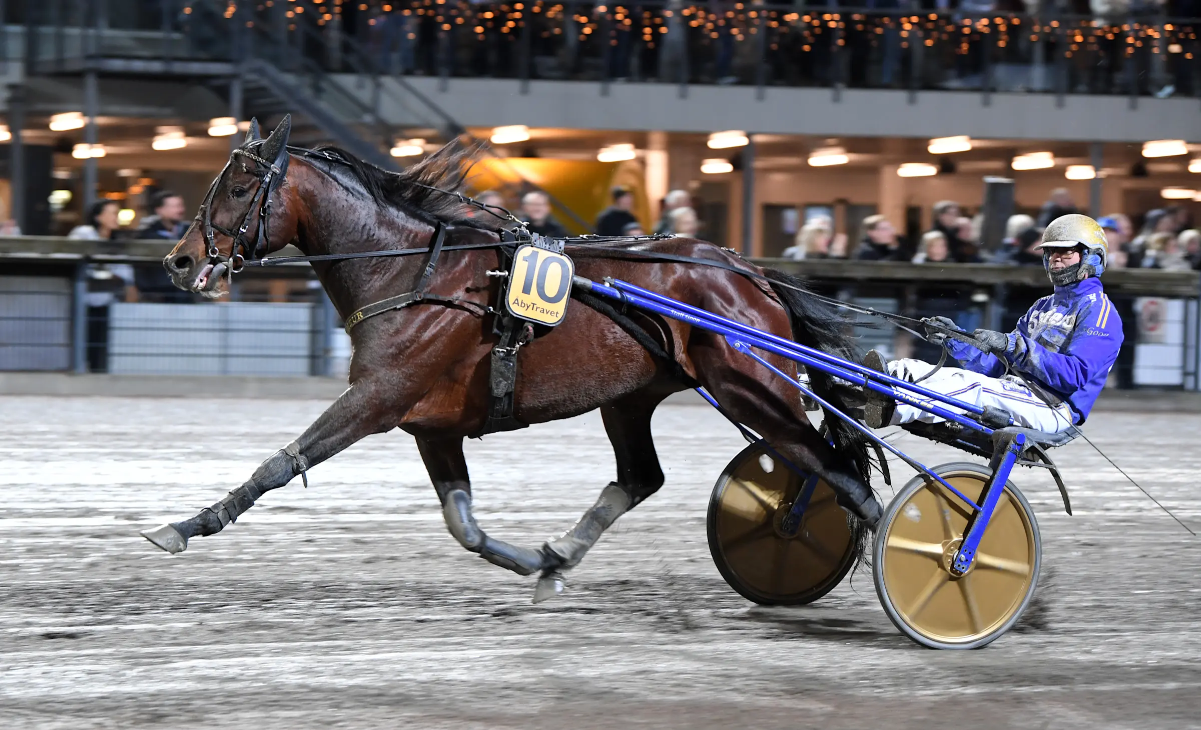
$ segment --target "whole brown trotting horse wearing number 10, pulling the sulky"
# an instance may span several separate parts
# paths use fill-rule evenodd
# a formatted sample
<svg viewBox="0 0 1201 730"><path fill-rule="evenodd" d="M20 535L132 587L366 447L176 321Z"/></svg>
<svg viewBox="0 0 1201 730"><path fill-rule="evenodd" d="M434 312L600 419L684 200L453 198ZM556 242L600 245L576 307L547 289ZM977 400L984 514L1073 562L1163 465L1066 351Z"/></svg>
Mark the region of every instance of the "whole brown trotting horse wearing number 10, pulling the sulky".
<svg viewBox="0 0 1201 730"><path fill-rule="evenodd" d="M866 484L866 450L836 418L826 418L837 444L831 445L809 424L800 393L736 353L723 337L640 312L629 312L622 327L613 318L614 311L607 315L599 311L604 307L593 309L594 301L588 306L573 300L562 323L520 346L514 414L521 423L538 424L600 408L616 454L616 481L604 487L579 522L539 549L515 548L485 534L471 511L462 439L480 432L488 419L490 353L497 342L496 315L489 305L497 301L503 285L496 273L507 268L508 258L498 232L483 220L488 216L443 192L462 186L470 150L447 145L401 173L390 173L334 148L288 148L288 130L285 118L263 139L257 124L252 125L231 155L201 215L163 262L178 287L220 297L239 263L235 255L253 258L288 243L310 256L424 251L444 229L447 251L432 276L425 277L429 300L354 327L351 387L329 409L213 507L143 533L153 543L179 552L189 538L221 531L264 492L283 486L310 466L365 436L400 427L417 439L450 533L497 566L521 575L540 573L536 600L545 598L562 590L561 572L579 563L614 520L662 486L651 414L668 395L697 383L733 419L824 477L844 508L874 526L880 507ZM472 244L490 247L453 250ZM753 267L712 244L692 239L576 243L567 253L575 261L576 274L593 281L621 279L805 345L850 352L841 319L791 288L795 280ZM710 259L766 275L772 283L723 268L646 261L653 253ZM313 269L346 318L371 303L414 291L426 259L423 255L327 261L313 263ZM632 336L632 321L643 343ZM657 343L658 357L646 346L646 337ZM766 357L796 373L794 363ZM820 373L812 376L824 397L846 403L838 388Z"/></svg>

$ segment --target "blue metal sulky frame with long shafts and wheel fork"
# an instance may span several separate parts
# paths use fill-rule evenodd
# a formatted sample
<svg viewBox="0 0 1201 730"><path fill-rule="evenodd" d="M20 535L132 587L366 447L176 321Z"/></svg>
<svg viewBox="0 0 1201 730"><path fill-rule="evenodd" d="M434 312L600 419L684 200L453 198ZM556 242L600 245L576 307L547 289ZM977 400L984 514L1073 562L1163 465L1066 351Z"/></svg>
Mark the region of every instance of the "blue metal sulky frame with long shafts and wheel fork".
<svg viewBox="0 0 1201 730"><path fill-rule="evenodd" d="M1008 423L998 423L996 413L990 413L975 403L956 400L943 395L942 393L930 390L928 388L922 388L915 383L909 383L890 375L871 370L856 363L824 353L819 349L813 349L812 347L806 347L805 345L793 342L791 340L778 337L770 333L765 333L740 322L735 322L734 319L728 319L703 309L676 301L669 297L663 297L662 294L657 294L650 289L644 289L643 287L625 281L607 279L604 283L598 283L576 276L574 285L592 294L615 299L622 304L656 312L664 317L687 322L693 327L699 327L701 329L724 335L725 341L729 342L730 347L754 359L775 375L784 378L784 381L791 383L794 388L825 408L826 412L832 413L837 418L847 421L882 448L888 449L904 462L945 486L951 491L951 493L956 495L960 499L963 499L972 507L972 509L975 510L969 521L968 532L963 538L960 551L955 556L954 569L955 572L963 574L972 566L972 561L975 558L976 548L980 545L980 539L984 537L985 529L992 520L992 513L997 507L997 501L1000 498L1000 492L1005 487L1005 483L1009 480L1009 474L1014 469L1014 465L1017 462L1018 456L1023 450L1026 450L1026 435L1020 432L1014 433L1011 437L1000 442L1004 448L998 448L997 453L993 455L991 463L992 478L990 479L984 492L984 504L976 504L974 499L948 484L945 479L930 471L928 467L903 454L896 447L872 432L871 429L831 406L827 401L813 393L812 389L807 388L796 378L790 377L788 373L769 363L755 351L765 351L781 355L788 358L789 360L800 363L806 367L814 367L833 377L842 378L852 384L861 385L865 389L870 388L903 403L921 408L922 411L933 413L943 419L951 420L963 425L964 427L979 431L985 436L992 436L994 433L994 429L980 423L978 419L986 419L998 427L1012 426L1014 421L1011 418L1008 418L1008 414L1005 417ZM722 411L721 406L718 406L717 401L715 401L712 396L700 388L697 390L713 407ZM970 415L963 415L962 413L951 411L945 406L957 408ZM724 413L724 411L722 412ZM972 418L973 415L975 418ZM779 456L775 449L770 450L773 455L784 461L790 469L805 478L805 485L801 489L801 493L793 504L793 509L785 520L785 526L789 523L794 526L800 525L800 517L808 504L808 497L813 493L813 489L817 485L817 475L805 473L788 459Z"/></svg>

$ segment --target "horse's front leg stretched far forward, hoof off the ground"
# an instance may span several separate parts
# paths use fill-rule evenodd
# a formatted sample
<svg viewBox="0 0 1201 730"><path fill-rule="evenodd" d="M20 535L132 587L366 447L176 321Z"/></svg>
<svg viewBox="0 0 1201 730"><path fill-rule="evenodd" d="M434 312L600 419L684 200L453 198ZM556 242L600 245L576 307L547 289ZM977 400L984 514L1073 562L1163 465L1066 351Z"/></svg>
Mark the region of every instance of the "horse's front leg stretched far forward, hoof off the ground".
<svg viewBox="0 0 1201 730"><path fill-rule="evenodd" d="M299 438L261 463L245 484L195 517L145 529L142 535L167 552L183 552L189 538L221 532L264 492L283 486L365 436L395 427L404 408L389 395L382 383L355 382Z"/></svg>

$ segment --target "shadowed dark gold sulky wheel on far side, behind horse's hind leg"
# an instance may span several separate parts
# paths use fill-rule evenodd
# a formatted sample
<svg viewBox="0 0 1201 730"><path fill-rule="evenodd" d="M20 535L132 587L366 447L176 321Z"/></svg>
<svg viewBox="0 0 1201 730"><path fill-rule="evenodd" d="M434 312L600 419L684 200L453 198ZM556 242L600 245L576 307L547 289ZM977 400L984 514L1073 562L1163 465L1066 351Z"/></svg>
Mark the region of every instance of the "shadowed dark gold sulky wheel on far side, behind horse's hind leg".
<svg viewBox="0 0 1201 730"><path fill-rule="evenodd" d="M735 456L709 501L709 550L722 578L763 605L797 605L821 598L855 564L862 526L818 481L795 531L783 519L803 479L753 443Z"/></svg>

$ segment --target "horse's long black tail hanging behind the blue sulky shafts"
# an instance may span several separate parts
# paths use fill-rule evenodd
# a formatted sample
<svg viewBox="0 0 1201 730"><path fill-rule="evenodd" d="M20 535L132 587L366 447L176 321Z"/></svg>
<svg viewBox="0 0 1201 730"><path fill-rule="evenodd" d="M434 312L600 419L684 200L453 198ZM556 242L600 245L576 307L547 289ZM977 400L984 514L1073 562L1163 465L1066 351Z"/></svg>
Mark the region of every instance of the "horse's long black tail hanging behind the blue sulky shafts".
<svg viewBox="0 0 1201 730"><path fill-rule="evenodd" d="M795 276L767 268L764 268L763 273L772 282L771 288L788 311L793 323L793 339L796 342L831 355L859 361L859 348L848 333L847 319L838 313L838 310L817 298L806 297L805 282ZM813 391L827 403L842 413L847 413L854 406L848 388L837 387L831 376L815 367L808 367L807 372ZM850 473L858 474L864 484L871 484L872 459L862 435L827 409L824 409L824 415L835 451L850 462L844 466L850 467Z"/></svg>

